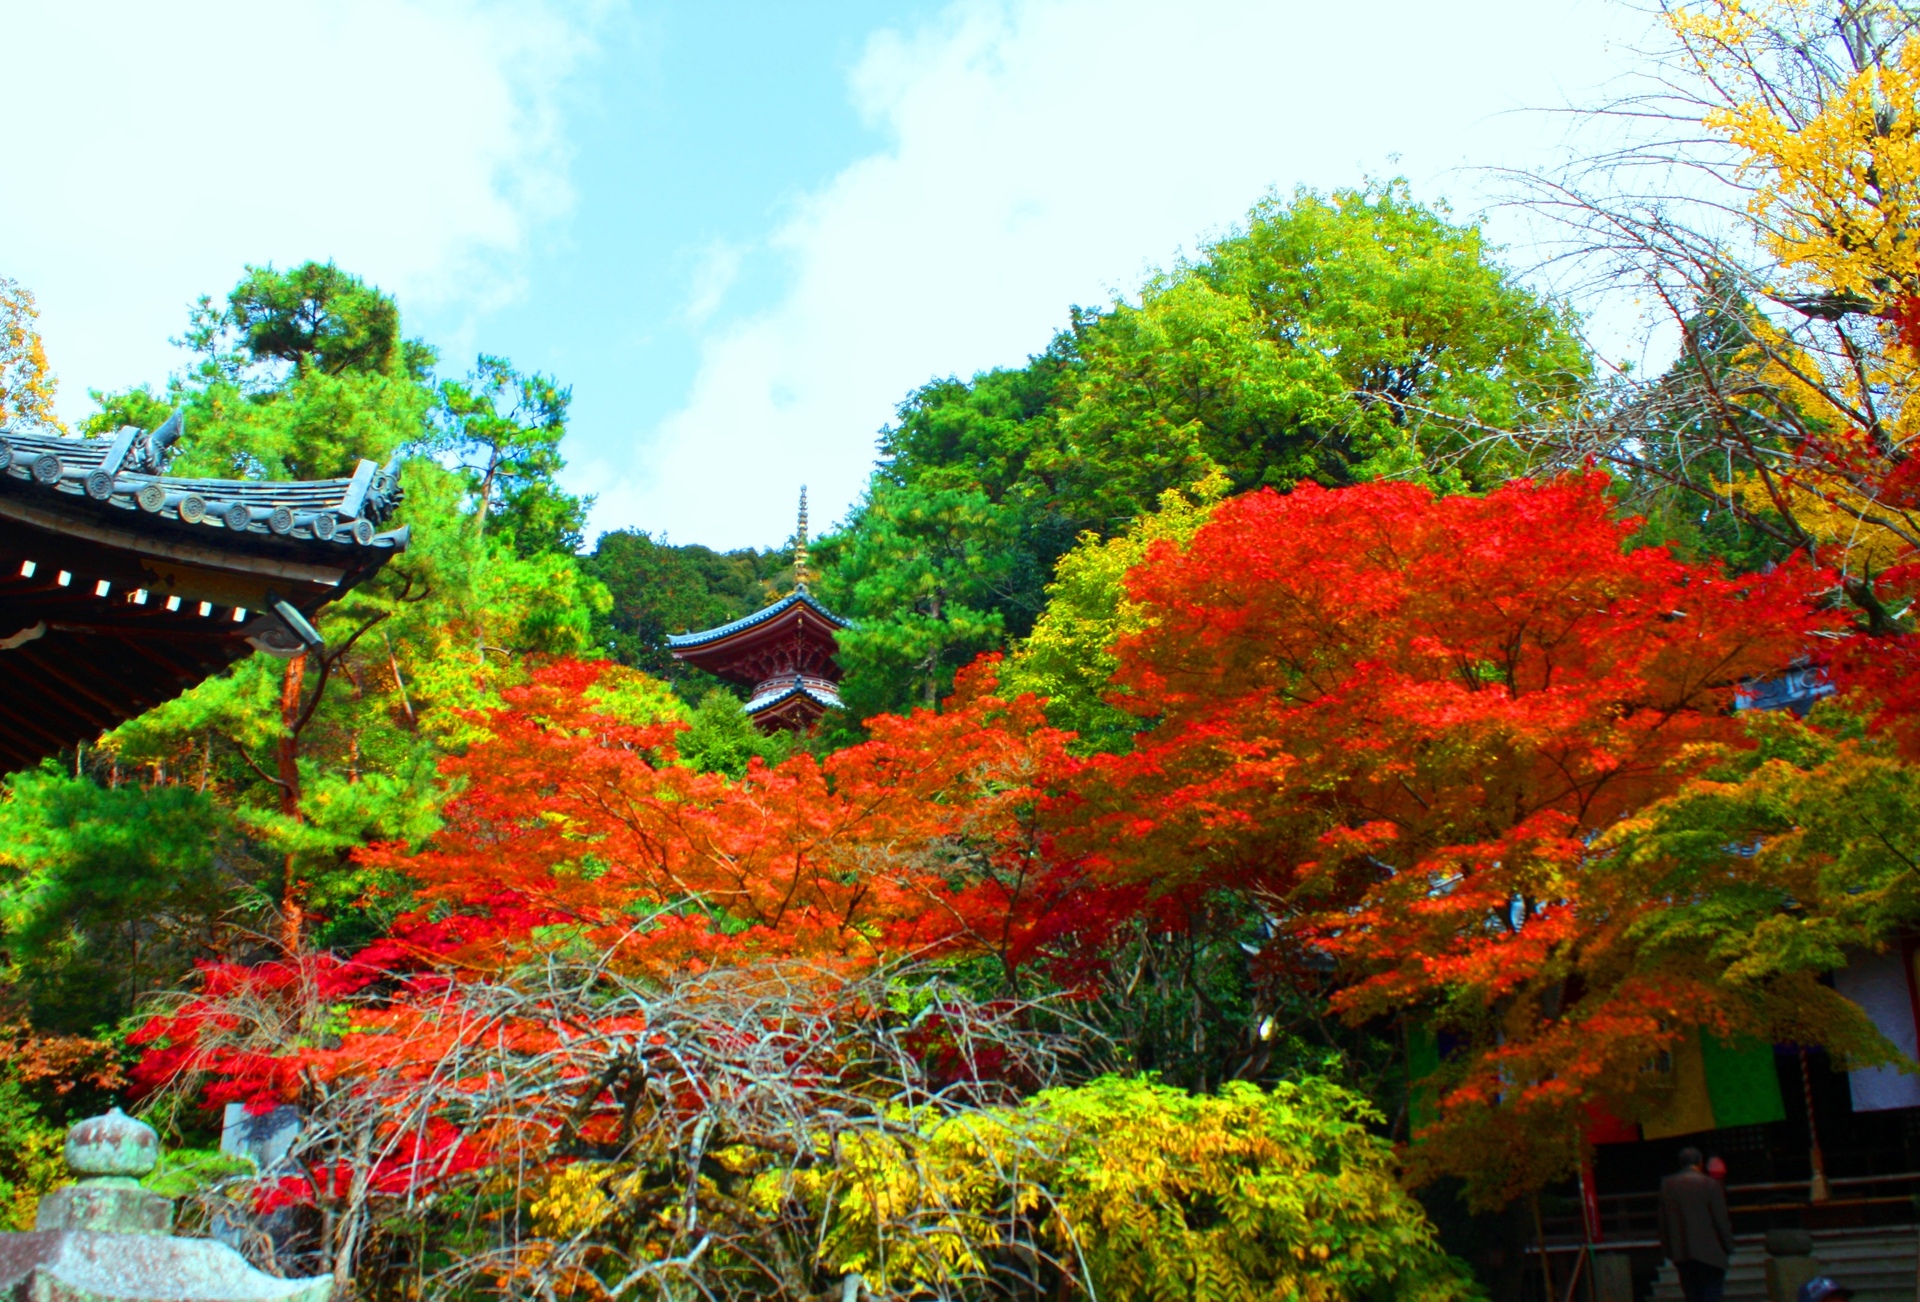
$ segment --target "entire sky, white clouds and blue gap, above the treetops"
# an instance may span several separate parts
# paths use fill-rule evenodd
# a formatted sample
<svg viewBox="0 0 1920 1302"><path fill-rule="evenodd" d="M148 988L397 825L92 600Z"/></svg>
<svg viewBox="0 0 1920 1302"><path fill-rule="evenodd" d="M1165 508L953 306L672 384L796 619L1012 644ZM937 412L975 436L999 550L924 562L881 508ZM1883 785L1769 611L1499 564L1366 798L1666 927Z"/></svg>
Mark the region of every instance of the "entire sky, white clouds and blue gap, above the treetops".
<svg viewBox="0 0 1920 1302"><path fill-rule="evenodd" d="M1476 211L1630 63L1601 0L0 0L0 275L61 405L332 257L574 388L595 528L770 545L935 374L1012 365L1269 188ZM1524 229L1496 236L1528 255Z"/></svg>

